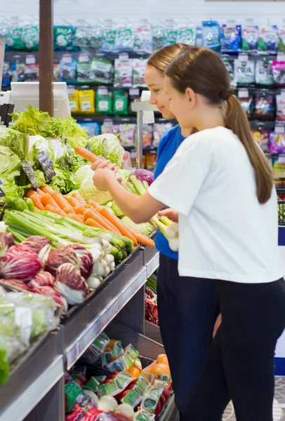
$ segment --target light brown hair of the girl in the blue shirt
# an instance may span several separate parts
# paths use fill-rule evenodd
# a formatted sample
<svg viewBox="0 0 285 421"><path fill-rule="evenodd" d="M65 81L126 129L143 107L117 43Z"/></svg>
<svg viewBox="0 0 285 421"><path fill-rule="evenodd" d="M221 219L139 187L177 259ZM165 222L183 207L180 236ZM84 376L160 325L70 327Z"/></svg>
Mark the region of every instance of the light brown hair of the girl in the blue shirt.
<svg viewBox="0 0 285 421"><path fill-rule="evenodd" d="M185 51L189 49L190 46L182 43L166 46L153 53L147 60L147 65L154 67L159 72L164 74L171 62L173 62L173 60L178 57L178 55L185 53Z"/></svg>

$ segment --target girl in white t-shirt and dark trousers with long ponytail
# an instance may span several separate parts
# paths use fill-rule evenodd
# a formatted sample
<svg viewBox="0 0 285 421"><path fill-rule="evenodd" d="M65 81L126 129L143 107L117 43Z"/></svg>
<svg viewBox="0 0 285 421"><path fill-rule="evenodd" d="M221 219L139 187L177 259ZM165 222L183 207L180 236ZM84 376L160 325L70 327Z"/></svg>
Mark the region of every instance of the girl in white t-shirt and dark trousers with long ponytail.
<svg viewBox="0 0 285 421"><path fill-rule="evenodd" d="M223 321L187 419L220 421L232 399L239 421L272 421L274 349L285 327L272 171L216 53L193 47L176 58L166 91L180 126L198 133L143 196L127 192L107 168L93 180L134 222L173 208L180 276L216 283Z"/></svg>

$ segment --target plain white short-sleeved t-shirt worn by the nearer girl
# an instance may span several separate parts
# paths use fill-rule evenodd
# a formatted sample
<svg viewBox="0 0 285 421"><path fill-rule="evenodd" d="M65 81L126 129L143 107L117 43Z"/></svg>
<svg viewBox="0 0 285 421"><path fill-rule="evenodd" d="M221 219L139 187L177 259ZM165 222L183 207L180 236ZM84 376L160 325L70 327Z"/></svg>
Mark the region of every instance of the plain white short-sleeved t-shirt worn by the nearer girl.
<svg viewBox="0 0 285 421"><path fill-rule="evenodd" d="M260 205L253 167L229 129L185 139L149 193L179 213L180 276L240 283L284 276L276 191Z"/></svg>

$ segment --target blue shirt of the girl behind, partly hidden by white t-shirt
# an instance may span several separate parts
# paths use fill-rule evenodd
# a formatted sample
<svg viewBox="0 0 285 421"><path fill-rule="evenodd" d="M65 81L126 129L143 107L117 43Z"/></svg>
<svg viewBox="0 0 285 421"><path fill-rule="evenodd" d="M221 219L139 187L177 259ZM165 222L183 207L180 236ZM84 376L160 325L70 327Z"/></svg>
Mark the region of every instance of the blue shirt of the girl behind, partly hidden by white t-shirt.
<svg viewBox="0 0 285 421"><path fill-rule="evenodd" d="M166 164L171 160L184 139L183 135L181 135L180 126L171 128L171 130L168 130L161 136L157 149L157 166L154 171L154 179L164 171ZM178 253L171 250L168 246L168 240L159 231L157 232L155 245L159 253L165 255L167 258L178 260Z"/></svg>

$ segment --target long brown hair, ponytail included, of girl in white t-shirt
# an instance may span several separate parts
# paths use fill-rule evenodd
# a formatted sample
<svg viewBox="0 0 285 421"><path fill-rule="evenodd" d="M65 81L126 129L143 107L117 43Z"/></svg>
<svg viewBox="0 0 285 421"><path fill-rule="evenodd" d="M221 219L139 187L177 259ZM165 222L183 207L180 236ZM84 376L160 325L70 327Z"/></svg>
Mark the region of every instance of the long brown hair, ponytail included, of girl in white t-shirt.
<svg viewBox="0 0 285 421"><path fill-rule="evenodd" d="M230 74L218 54L208 48L192 47L171 62L166 76L171 78L173 88L178 92L185 93L189 87L225 110L225 127L230 128L244 145L256 173L258 201L266 203L272 193L273 171L253 139L244 109L232 95Z"/></svg>

